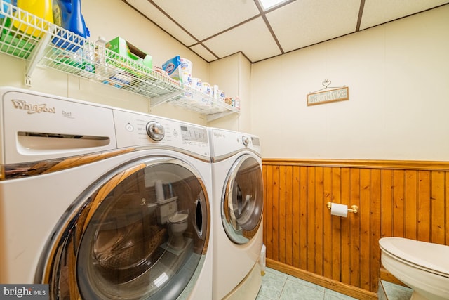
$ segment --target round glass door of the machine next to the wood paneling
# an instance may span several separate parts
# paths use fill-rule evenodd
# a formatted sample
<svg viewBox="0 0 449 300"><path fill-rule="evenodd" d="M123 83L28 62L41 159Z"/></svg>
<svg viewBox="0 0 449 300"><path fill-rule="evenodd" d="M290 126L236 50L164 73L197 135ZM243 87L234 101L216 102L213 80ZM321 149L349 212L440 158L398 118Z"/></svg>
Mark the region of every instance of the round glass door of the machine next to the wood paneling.
<svg viewBox="0 0 449 300"><path fill-rule="evenodd" d="M232 165L222 194L222 223L232 242L246 244L262 221L263 182L259 162L242 155Z"/></svg>

